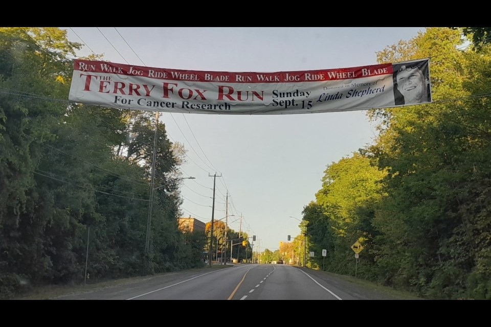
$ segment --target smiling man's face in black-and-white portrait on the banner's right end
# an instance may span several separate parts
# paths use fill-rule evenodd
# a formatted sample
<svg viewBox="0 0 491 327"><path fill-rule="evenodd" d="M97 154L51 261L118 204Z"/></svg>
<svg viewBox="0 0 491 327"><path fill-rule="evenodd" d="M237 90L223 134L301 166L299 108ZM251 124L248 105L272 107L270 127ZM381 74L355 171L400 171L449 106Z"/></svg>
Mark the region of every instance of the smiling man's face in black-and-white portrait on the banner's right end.
<svg viewBox="0 0 491 327"><path fill-rule="evenodd" d="M425 102L425 76L419 68L402 69L397 74L397 89L404 96L406 104Z"/></svg>

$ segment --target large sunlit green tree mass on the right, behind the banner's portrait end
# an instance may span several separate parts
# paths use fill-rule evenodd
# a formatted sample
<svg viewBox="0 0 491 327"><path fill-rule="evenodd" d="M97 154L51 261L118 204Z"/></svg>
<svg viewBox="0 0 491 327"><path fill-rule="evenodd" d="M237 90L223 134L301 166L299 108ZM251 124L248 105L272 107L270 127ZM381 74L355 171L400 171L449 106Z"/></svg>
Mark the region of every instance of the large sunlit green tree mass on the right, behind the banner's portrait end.
<svg viewBox="0 0 491 327"><path fill-rule="evenodd" d="M461 42L456 30L429 28L378 54L381 62L432 57L435 102L378 115L382 132L368 152L388 175L373 220L375 259L394 287L489 298L489 49L458 51Z"/></svg>

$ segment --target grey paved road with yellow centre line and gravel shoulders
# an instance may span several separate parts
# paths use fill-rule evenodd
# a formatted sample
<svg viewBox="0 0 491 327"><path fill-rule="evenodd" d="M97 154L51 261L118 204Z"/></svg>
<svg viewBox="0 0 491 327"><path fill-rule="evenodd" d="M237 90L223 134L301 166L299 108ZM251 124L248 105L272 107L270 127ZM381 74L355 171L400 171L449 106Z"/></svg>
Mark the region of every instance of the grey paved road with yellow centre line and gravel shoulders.
<svg viewBox="0 0 491 327"><path fill-rule="evenodd" d="M220 267L221 268L221 267ZM341 300L394 299L330 276L288 265L227 265L172 272L56 299Z"/></svg>

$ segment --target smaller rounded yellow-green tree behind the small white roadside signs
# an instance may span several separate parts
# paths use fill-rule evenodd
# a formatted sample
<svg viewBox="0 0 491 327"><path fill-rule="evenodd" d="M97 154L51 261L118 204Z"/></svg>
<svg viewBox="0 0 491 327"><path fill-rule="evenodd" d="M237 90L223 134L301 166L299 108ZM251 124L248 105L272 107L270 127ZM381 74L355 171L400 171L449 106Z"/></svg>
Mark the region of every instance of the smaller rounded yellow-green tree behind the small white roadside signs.
<svg viewBox="0 0 491 327"><path fill-rule="evenodd" d="M385 175L360 153L327 167L316 204L304 209L304 219L309 221L308 235L317 252L326 249L329 253L326 269L354 274L350 246L363 238L365 246L373 249L372 242L378 232L372 221L383 196L381 181ZM365 251L363 260L366 269L360 271L361 276L373 278L374 272L369 269L374 266L373 255Z"/></svg>

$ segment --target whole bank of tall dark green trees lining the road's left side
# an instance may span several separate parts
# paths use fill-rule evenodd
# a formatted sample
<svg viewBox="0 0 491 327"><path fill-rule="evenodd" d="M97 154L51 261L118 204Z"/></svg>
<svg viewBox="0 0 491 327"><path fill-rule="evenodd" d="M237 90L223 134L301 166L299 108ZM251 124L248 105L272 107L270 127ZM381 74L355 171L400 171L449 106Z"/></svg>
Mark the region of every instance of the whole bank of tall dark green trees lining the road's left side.
<svg viewBox="0 0 491 327"><path fill-rule="evenodd" d="M57 28L0 28L0 294L29 285L195 267L176 218L184 149L149 114L68 103L80 44ZM138 144L138 146L137 146ZM152 244L144 255L157 153ZM90 235L88 230L90 228ZM194 238L194 237L193 237ZM200 255L199 255L200 256Z"/></svg>

